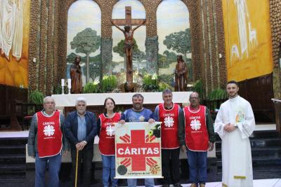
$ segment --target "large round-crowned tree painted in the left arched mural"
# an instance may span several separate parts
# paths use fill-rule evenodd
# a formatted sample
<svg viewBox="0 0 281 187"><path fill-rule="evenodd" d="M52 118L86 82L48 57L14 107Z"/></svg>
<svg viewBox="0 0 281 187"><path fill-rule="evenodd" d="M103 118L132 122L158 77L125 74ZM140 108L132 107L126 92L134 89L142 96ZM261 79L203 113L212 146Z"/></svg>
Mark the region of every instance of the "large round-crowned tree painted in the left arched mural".
<svg viewBox="0 0 281 187"><path fill-rule="evenodd" d="M70 42L71 49L75 49L75 53L86 54L86 83L89 82L89 55L100 48L100 36L91 28L86 28L74 36Z"/></svg>

